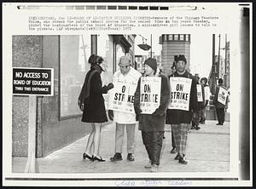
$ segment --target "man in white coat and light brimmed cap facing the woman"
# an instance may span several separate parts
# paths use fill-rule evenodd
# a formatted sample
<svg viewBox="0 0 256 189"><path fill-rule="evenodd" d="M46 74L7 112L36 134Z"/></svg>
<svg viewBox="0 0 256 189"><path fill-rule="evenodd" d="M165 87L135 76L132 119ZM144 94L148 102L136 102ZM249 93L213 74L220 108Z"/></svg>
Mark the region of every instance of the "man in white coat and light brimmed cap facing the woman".
<svg viewBox="0 0 256 189"><path fill-rule="evenodd" d="M131 60L127 56L121 56L119 60L118 72L113 74L113 83L122 83L125 85L137 84L139 77L142 76L140 72L137 72L131 67ZM131 89L131 88L129 88ZM134 94L134 91L132 92ZM112 99L113 89L109 91L109 100ZM111 103L111 102L109 102ZM136 114L135 112L121 112L108 110L108 117L116 123L115 127L115 153L110 161L120 161L122 158L122 148L124 141L124 130L126 128L127 135L127 159L134 161L134 150L135 150L135 126L136 126Z"/></svg>

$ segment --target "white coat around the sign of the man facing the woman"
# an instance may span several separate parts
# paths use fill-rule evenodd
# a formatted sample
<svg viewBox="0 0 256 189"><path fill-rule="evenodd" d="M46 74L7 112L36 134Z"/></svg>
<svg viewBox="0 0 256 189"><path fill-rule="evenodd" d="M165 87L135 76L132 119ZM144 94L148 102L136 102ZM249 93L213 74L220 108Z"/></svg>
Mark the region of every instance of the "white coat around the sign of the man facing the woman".
<svg viewBox="0 0 256 189"><path fill-rule="evenodd" d="M131 70L126 75L123 75L120 71L115 72L113 74L113 83L118 80L123 83L137 83L139 77L141 76L142 74L140 72L137 72L137 70L131 67ZM109 90L109 96L113 95L112 91L113 90ZM136 123L136 114L135 112L128 113L113 111L113 121L121 124Z"/></svg>

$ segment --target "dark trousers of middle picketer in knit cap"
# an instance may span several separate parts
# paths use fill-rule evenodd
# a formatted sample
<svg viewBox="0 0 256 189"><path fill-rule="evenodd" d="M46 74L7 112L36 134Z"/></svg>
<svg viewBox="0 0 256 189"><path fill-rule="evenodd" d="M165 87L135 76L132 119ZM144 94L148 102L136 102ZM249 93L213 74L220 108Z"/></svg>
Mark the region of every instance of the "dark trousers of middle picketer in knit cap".
<svg viewBox="0 0 256 189"><path fill-rule="evenodd" d="M160 152L163 144L165 131L142 131L143 144L148 152L148 158L151 164L160 164Z"/></svg>

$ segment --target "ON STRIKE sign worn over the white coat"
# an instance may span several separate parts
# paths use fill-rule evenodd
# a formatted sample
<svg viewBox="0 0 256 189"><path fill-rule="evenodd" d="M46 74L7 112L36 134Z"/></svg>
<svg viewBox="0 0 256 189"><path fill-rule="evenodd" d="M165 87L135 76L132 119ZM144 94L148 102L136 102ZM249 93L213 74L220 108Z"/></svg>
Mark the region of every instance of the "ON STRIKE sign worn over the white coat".
<svg viewBox="0 0 256 189"><path fill-rule="evenodd" d="M134 93L137 83L124 83L116 81L109 96L108 109L119 112L135 113L133 107Z"/></svg>

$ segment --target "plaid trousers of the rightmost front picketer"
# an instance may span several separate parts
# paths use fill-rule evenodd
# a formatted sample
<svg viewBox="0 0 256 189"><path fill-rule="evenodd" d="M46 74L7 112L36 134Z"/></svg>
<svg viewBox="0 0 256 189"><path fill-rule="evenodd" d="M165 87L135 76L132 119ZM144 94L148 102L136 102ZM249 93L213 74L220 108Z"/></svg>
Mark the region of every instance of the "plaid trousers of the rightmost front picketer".
<svg viewBox="0 0 256 189"><path fill-rule="evenodd" d="M180 154L186 154L189 123L172 124L176 150Z"/></svg>

